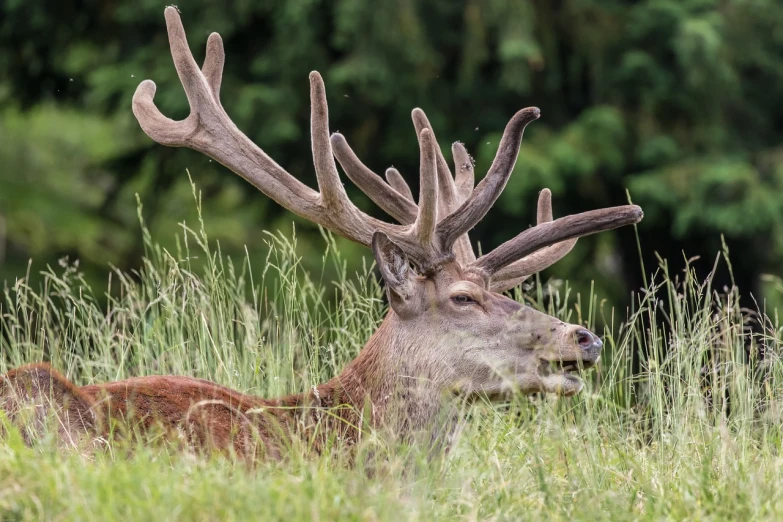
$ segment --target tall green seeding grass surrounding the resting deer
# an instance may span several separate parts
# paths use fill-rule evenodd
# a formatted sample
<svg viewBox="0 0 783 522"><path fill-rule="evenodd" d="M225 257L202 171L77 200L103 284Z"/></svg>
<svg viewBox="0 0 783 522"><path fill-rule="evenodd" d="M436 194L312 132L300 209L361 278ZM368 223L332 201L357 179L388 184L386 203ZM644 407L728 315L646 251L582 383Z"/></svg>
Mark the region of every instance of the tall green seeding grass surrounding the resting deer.
<svg viewBox="0 0 783 522"><path fill-rule="evenodd" d="M323 262L337 281L303 273L287 236L268 236L266 259L233 263L203 227L176 252L145 238L144 267L112 271L106 289L85 288L66 261L40 288L8 282L0 372L48 360L80 384L173 373L274 396L337 373L385 312L370 268L346 273L329 238ZM627 311L559 289L537 284L524 299L607 325L585 391L477 404L443 458L369 436L363 451L385 456L372 474L297 453L248 469L161 445L85 457L11 433L0 442L0 520L783 518L775 313L741 310L735 292L665 265Z"/></svg>

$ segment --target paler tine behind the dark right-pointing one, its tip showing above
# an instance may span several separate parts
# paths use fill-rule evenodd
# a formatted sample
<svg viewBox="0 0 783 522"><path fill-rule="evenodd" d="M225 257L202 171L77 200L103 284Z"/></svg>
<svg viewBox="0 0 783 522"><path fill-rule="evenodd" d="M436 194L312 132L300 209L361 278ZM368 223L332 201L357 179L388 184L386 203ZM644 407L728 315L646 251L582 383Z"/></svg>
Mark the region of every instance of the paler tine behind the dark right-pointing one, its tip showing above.
<svg viewBox="0 0 783 522"><path fill-rule="evenodd" d="M538 196L537 215L539 225L553 219L552 193L549 189L542 190ZM576 241L577 238L573 238L555 243L503 267L492 277L490 288L493 292L505 292L514 288L530 275L544 270L565 257L574 248Z"/></svg>

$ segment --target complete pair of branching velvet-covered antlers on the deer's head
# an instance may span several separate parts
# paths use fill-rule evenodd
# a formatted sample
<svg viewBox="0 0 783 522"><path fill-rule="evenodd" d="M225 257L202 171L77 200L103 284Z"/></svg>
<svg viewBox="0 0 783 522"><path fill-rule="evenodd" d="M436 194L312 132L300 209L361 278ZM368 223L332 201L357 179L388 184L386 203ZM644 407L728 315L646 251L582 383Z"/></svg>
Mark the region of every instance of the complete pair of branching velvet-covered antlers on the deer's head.
<svg viewBox="0 0 783 522"><path fill-rule="evenodd" d="M524 129L540 115L537 108L522 109L511 118L489 172L475 188L473 162L462 144L452 146L456 173L453 177L426 115L415 109L412 118L421 155L421 192L417 205L396 169L386 171L386 183L359 161L342 135L329 137L323 79L312 72L310 117L319 189L316 192L275 163L226 114L220 103L225 61L220 35L209 36L206 59L199 69L188 48L177 8L167 7L165 16L171 55L191 112L182 121L165 117L153 101L155 83L145 80L133 96L133 113L144 132L163 145L189 147L212 157L288 210L357 243L370 246L373 234L386 234L424 273L454 259L456 254L463 266L496 276L493 289L506 289L511 283L517 284L530 270L547 266L565 255L577 237L637 223L642 218L639 207L624 206L552 221L551 196L549 191L544 191L539 199L538 225L475 260L467 234L505 188ZM399 225L368 216L351 203L340 181L335 157L348 177L397 219Z"/></svg>

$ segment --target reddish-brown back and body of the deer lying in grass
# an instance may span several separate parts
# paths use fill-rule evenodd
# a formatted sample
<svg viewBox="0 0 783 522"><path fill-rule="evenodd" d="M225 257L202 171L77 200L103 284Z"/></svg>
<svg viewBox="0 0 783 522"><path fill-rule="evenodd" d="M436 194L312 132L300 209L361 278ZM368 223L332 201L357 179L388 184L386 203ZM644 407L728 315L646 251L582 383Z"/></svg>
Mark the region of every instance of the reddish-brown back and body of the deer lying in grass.
<svg viewBox="0 0 783 522"><path fill-rule="evenodd" d="M312 392L265 400L180 376L77 387L48 364L37 363L0 377L0 410L22 428L28 443L41 436L46 419L53 417L58 440L73 446L85 436L163 430L200 450L279 458L294 442L294 433L317 452L329 435L356 440L360 414L353 404L342 404L346 394L338 387L331 381L318 386L320 400ZM323 415L324 408L337 415ZM32 410L32 418L25 416L26 410Z"/></svg>

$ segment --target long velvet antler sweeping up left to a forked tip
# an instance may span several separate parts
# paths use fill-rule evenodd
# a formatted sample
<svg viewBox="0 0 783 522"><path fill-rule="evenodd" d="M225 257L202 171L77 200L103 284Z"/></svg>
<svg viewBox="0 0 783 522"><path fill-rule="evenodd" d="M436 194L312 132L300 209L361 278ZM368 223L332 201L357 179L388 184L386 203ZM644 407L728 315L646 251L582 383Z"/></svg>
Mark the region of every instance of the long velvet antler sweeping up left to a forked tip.
<svg viewBox="0 0 783 522"><path fill-rule="evenodd" d="M368 216L348 199L334 162L326 93L323 79L317 72L310 73L310 101L313 162L319 192L275 163L226 114L219 97L225 59L220 35L212 33L209 36L204 66L199 69L188 48L179 12L175 7L167 7L165 16L171 56L191 112L182 121L165 117L153 101L155 83L143 81L133 96L133 113L147 135L162 145L189 147L210 156L288 210L357 243L369 246L373 234L381 231L424 270L431 270L453 257L449 250L438 248L434 241L435 206L420 205L417 209L415 205L400 204L394 214L403 224L395 225ZM437 200L436 153L430 136L429 131L422 131L419 138L422 186L428 187L422 196Z"/></svg>

